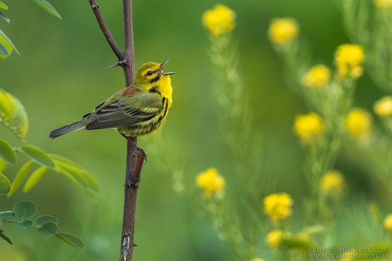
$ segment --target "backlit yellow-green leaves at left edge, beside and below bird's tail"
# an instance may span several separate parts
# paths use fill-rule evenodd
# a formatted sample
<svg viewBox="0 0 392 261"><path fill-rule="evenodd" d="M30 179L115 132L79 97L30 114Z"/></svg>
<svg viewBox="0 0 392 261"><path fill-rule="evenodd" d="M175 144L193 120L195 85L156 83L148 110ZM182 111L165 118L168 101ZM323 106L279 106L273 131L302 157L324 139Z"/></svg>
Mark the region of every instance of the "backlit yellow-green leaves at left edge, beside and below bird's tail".
<svg viewBox="0 0 392 261"><path fill-rule="evenodd" d="M25 108L18 98L2 89L0 89L0 122L16 137L22 141L25 140L28 129L28 118ZM97 201L99 191L98 182L83 167L65 157L48 154L37 146L25 144L14 148L9 142L0 139L0 163L4 168L7 164L13 165L17 162L15 151L24 154L30 160L21 167L12 181L11 188L7 185L7 182L9 182L8 179L5 176L0 176L4 191L9 192L8 196L11 196L22 185L34 163L36 163L40 167L35 169L28 177L23 189L25 192L28 192L37 185L48 169L52 169L57 173L64 174L76 185L81 187L91 200Z"/></svg>

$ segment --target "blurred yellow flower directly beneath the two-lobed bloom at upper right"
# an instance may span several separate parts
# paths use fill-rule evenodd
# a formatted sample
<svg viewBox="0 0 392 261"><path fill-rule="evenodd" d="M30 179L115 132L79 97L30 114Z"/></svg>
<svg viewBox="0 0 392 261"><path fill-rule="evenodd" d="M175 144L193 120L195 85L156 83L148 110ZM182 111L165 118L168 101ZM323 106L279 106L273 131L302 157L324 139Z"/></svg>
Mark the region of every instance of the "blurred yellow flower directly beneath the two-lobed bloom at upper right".
<svg viewBox="0 0 392 261"><path fill-rule="evenodd" d="M371 127L371 118L368 112L354 108L347 116L348 133L356 139L368 136Z"/></svg>

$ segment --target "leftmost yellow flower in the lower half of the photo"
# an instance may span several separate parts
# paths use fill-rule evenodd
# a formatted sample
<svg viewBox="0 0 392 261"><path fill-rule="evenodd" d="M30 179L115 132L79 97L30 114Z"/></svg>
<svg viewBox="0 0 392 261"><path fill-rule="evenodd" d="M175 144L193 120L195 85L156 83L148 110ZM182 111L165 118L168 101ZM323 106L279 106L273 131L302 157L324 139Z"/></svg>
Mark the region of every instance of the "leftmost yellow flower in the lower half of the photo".
<svg viewBox="0 0 392 261"><path fill-rule="evenodd" d="M222 195L225 181L216 168L209 168L197 175L196 184L203 190L203 196L208 199L213 195Z"/></svg>

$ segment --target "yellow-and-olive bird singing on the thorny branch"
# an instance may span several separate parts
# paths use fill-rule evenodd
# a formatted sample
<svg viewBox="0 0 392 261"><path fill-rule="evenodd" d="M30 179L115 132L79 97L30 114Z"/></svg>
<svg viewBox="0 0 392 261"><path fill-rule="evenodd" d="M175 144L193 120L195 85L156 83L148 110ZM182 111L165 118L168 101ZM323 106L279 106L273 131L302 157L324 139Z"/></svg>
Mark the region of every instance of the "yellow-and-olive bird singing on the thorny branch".
<svg viewBox="0 0 392 261"><path fill-rule="evenodd" d="M113 128L132 143L138 152L140 147L131 138L157 130L172 107L173 89L169 75L176 72L163 71L168 61L143 64L130 86L99 103L82 119L49 132L48 137L54 139L83 128Z"/></svg>

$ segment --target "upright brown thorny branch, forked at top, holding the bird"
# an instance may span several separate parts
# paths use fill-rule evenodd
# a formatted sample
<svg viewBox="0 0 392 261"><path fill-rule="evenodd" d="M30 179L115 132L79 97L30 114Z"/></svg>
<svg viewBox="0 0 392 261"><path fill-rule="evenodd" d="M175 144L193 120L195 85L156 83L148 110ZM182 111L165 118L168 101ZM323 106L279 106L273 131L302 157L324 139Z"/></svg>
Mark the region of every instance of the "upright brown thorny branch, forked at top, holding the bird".
<svg viewBox="0 0 392 261"><path fill-rule="evenodd" d="M132 28L132 1L123 0L123 22L124 22L124 52L114 41L95 0L89 0L94 14L97 17L99 27L102 29L110 47L112 47L119 62L113 65L123 67L125 76L125 87L131 86L135 77L135 57L133 47L133 28ZM131 138L137 144L137 137ZM126 170L125 170L125 195L124 195L124 214L123 214L123 233L121 237L120 261L132 261L133 237L135 231L136 196L139 188L140 173L146 159L145 151L127 142L126 146ZM136 153L136 155L135 155ZM135 156L136 157L135 157Z"/></svg>

